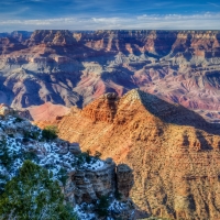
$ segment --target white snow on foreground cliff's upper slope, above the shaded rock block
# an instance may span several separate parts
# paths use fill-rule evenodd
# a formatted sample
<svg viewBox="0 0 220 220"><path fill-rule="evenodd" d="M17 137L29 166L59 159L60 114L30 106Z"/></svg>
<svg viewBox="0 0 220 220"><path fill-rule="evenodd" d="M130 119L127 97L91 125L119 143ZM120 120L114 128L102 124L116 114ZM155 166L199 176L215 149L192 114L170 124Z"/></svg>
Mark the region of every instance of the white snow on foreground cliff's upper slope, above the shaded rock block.
<svg viewBox="0 0 220 220"><path fill-rule="evenodd" d="M10 167L10 179L16 174L18 169L22 166L25 152L34 152L37 155L37 160L34 161L40 166L46 167L54 174L54 179L57 179L61 169L65 169L66 172L73 170L75 168L75 164L77 162L77 157L70 152L66 154L59 153L61 146L56 142L41 142L41 130L34 125L32 125L28 120L16 122L16 118L9 116L7 120L0 120L1 133L4 130L13 130L14 134L18 135L4 135L7 141L7 148L11 157L14 156L14 161ZM38 132L38 140L32 140L28 143L23 142L23 131L29 132ZM6 134L6 133L4 133ZM1 136L1 134L0 134ZM2 138L0 138L2 140ZM82 168L88 169L99 169L105 165L105 162L100 160L95 160L91 157L90 163L84 163L81 165ZM0 163L0 175L6 173L6 168Z"/></svg>

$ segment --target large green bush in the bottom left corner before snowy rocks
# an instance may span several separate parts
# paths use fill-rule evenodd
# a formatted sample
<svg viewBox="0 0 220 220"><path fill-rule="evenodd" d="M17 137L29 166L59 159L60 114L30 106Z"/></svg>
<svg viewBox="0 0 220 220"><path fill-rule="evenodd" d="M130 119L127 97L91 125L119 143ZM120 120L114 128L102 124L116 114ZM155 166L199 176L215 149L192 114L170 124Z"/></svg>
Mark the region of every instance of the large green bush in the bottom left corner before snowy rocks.
<svg viewBox="0 0 220 220"><path fill-rule="evenodd" d="M0 219L75 220L52 173L25 161L0 197Z"/></svg>

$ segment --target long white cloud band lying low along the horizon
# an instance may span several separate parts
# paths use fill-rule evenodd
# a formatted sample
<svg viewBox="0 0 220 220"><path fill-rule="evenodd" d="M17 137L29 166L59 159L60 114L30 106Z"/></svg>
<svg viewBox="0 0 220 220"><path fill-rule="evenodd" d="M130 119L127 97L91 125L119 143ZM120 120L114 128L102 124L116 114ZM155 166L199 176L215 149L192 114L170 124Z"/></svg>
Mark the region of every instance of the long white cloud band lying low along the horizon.
<svg viewBox="0 0 220 220"><path fill-rule="evenodd" d="M165 29L165 30L218 30L220 13L165 14L114 18L57 18L46 20L0 20L3 31L35 29L108 30L108 29Z"/></svg>

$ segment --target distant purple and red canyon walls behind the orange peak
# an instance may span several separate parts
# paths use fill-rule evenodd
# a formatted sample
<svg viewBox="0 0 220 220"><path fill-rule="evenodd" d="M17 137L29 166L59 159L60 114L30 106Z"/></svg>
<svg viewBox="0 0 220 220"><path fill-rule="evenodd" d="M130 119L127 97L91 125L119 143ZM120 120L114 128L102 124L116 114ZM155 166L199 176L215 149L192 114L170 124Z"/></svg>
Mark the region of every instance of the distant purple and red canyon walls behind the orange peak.
<svg viewBox="0 0 220 220"><path fill-rule="evenodd" d="M220 122L220 31L0 33L0 102L13 108L135 88Z"/></svg>

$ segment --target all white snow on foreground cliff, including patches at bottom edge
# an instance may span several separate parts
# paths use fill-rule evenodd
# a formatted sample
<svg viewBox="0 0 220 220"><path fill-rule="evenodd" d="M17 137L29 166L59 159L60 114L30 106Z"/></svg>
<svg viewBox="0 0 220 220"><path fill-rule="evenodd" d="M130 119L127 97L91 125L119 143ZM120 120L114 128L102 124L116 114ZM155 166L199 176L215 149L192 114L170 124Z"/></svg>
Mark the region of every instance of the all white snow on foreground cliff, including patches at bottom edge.
<svg viewBox="0 0 220 220"><path fill-rule="evenodd" d="M7 135L6 131L13 134ZM37 140L29 138L28 141L24 142L24 131L38 132ZM62 146L59 146L58 142L44 142L41 141L41 130L32 125L26 120L18 122L18 120L13 117L8 117L6 120L0 120L0 141L6 140L6 147L11 158L10 167L4 167L0 161L0 185L6 184L6 182L10 180L18 174L18 169L26 160L24 155L30 152L33 152L35 155L35 157L32 158L34 163L45 167L47 170L54 174L53 179L59 179L62 169L64 169L66 174L66 172L68 173L76 168L79 157L75 156L70 152L66 151L66 153L64 153L64 151L61 151ZM0 145L0 156L2 152L4 152L4 150L2 151L2 146ZM82 158L82 162L80 160L80 165L78 164L80 168L97 170L106 166L103 161L96 157L90 157L89 162L86 162L86 157ZM7 179L1 178L1 176L7 176ZM77 213L80 220L96 220L97 216L92 213L91 206L94 205L76 205L74 211ZM125 205L113 200L108 210L109 212L113 211L114 213L120 213L124 210L124 208ZM113 219L108 217L108 220Z"/></svg>

